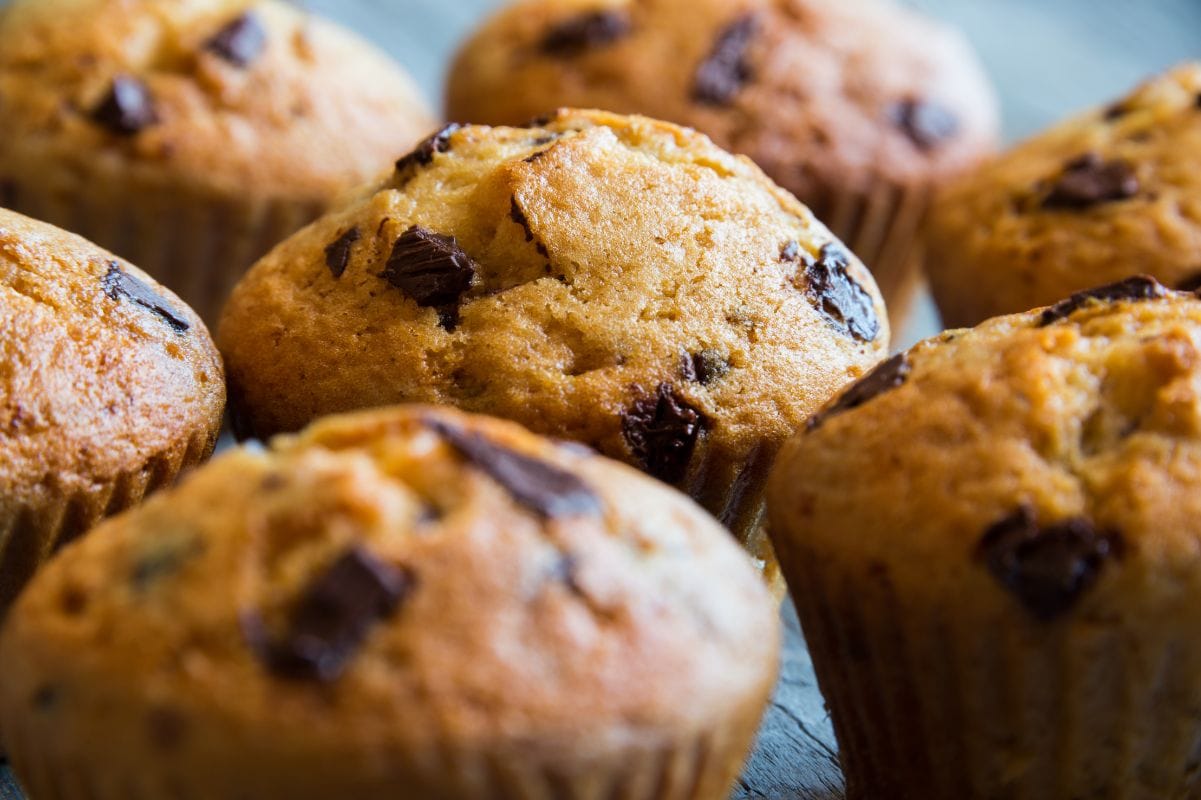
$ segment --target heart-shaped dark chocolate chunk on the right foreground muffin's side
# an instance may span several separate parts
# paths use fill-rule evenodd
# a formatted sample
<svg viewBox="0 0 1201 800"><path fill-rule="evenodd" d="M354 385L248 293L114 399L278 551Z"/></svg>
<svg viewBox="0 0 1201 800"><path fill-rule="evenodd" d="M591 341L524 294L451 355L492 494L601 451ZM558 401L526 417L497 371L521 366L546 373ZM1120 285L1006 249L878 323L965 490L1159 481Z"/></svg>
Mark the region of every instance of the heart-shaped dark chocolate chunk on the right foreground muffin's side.
<svg viewBox="0 0 1201 800"><path fill-rule="evenodd" d="M1034 511L1022 506L985 531L978 555L1027 611L1048 622L1071 610L1122 550L1119 535L1100 535L1087 519L1040 529Z"/></svg>

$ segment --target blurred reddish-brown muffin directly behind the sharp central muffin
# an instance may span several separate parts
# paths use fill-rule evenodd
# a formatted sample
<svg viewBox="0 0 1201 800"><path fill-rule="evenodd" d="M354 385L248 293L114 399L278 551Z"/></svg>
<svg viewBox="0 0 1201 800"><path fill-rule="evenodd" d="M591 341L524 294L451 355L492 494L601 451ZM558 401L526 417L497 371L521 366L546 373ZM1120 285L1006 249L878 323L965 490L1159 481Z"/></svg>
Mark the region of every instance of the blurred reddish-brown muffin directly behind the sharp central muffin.
<svg viewBox="0 0 1201 800"><path fill-rule="evenodd" d="M558 105L747 154L872 269L894 327L931 187L990 154L998 127L964 40L880 0L526 0L450 70L450 119L520 124Z"/></svg>

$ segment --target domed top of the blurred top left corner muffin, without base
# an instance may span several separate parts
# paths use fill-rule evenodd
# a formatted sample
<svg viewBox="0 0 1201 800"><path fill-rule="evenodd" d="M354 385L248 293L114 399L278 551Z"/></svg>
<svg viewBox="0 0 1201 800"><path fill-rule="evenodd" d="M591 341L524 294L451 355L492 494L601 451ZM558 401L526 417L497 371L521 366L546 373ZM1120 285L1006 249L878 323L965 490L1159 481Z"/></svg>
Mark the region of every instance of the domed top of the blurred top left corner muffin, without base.
<svg viewBox="0 0 1201 800"><path fill-rule="evenodd" d="M276 0L0 10L0 184L32 165L52 185L132 173L324 201L431 127L394 62Z"/></svg>

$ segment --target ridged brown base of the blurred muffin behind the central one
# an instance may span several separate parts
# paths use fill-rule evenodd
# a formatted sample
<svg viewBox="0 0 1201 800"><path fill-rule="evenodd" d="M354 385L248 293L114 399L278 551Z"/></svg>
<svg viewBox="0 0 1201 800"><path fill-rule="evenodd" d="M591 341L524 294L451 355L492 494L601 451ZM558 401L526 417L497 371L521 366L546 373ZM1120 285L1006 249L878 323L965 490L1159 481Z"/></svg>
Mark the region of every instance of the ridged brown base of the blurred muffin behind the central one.
<svg viewBox="0 0 1201 800"><path fill-rule="evenodd" d="M921 227L933 187L879 185L870 192L832 191L811 210L872 271L894 330L921 286Z"/></svg>

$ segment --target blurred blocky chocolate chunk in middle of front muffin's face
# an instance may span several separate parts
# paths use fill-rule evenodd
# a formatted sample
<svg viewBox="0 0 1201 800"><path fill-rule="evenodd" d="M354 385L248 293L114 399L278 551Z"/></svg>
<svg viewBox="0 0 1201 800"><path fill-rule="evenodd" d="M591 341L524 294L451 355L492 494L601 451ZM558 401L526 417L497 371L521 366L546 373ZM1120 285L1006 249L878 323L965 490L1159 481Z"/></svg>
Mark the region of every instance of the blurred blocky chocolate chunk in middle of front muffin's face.
<svg viewBox="0 0 1201 800"><path fill-rule="evenodd" d="M268 669L281 677L336 680L371 627L392 616L413 591L408 571L352 547L305 590L282 639L269 641L262 621L243 627Z"/></svg>

